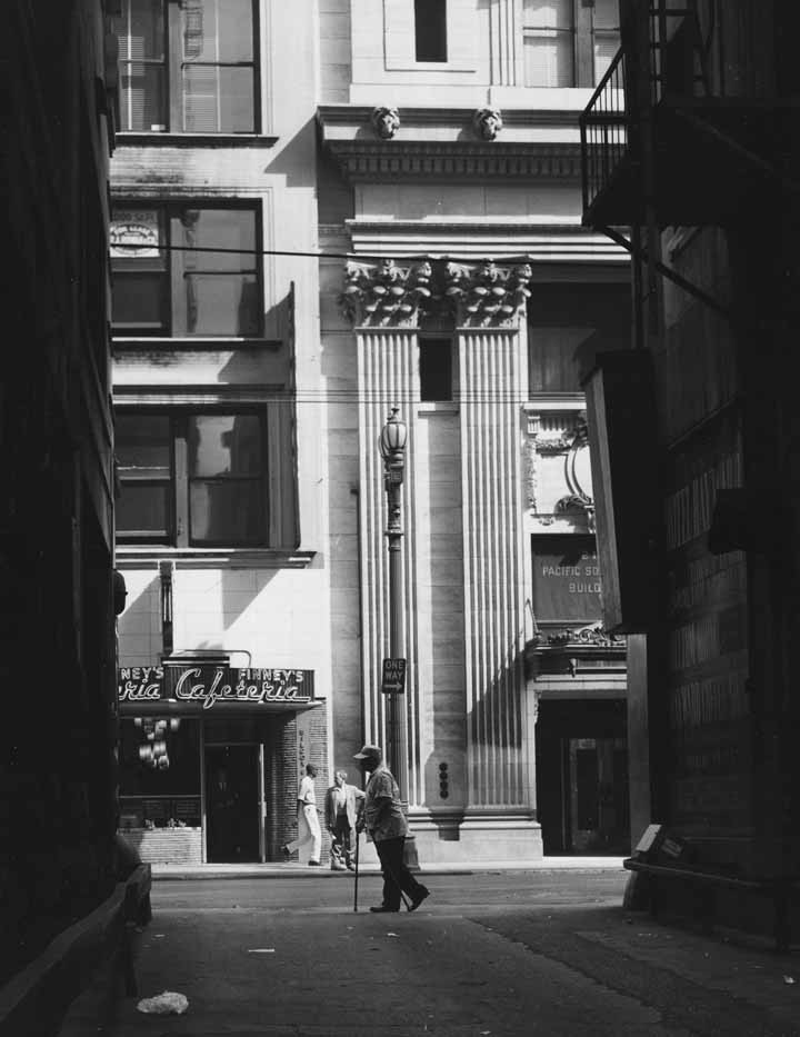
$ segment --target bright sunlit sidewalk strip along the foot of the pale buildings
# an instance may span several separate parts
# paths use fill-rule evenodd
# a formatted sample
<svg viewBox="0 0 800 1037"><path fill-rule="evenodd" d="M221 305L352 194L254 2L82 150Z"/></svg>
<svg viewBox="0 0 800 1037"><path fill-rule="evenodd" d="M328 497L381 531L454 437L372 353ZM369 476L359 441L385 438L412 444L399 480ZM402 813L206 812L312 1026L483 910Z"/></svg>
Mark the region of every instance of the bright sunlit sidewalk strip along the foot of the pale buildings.
<svg viewBox="0 0 800 1037"><path fill-rule="evenodd" d="M464 861L459 865L429 864L420 866L420 875L474 875L486 871L621 871L623 857L542 857L526 865L509 866L506 860ZM297 861L288 864L207 864L151 865L153 879L217 879L217 878L339 878L341 871L330 867L310 868ZM359 866L361 875L378 874L380 868L370 861Z"/></svg>

